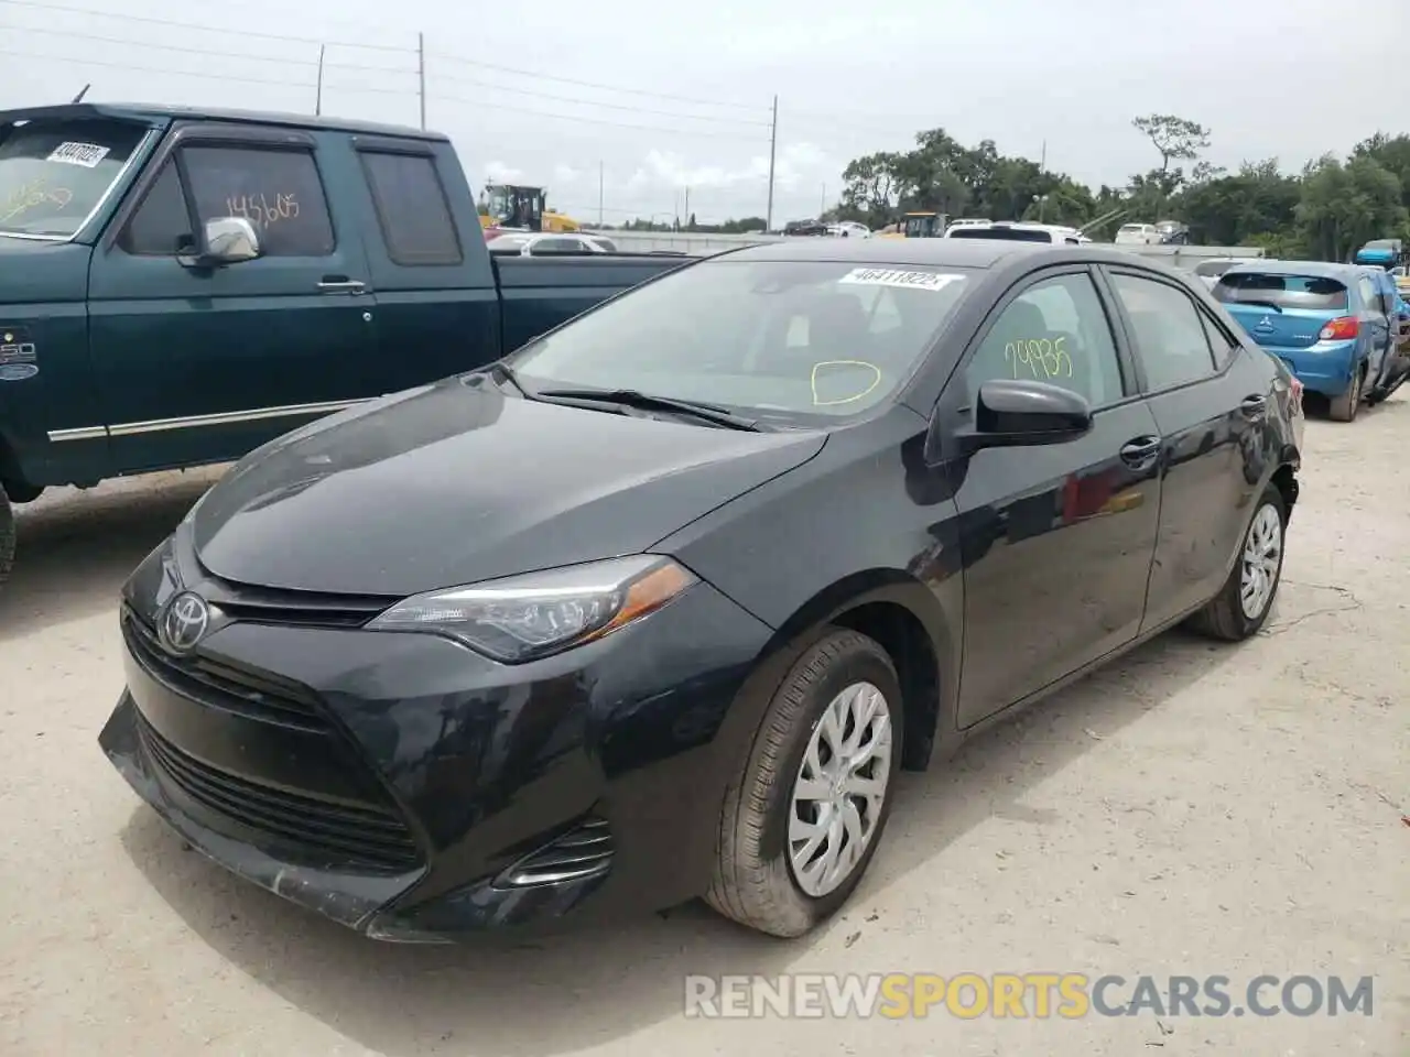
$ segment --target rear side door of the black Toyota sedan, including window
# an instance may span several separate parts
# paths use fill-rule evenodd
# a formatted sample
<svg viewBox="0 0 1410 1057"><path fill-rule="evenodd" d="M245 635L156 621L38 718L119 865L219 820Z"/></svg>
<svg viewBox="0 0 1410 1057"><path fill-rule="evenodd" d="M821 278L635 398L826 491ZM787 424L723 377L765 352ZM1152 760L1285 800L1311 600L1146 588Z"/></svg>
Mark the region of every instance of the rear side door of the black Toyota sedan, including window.
<svg viewBox="0 0 1410 1057"><path fill-rule="evenodd" d="M1242 366L1239 345L1179 283L1104 268L1141 386L1160 431L1160 533L1141 631L1213 598L1244 536L1262 479L1256 430L1268 372Z"/></svg>

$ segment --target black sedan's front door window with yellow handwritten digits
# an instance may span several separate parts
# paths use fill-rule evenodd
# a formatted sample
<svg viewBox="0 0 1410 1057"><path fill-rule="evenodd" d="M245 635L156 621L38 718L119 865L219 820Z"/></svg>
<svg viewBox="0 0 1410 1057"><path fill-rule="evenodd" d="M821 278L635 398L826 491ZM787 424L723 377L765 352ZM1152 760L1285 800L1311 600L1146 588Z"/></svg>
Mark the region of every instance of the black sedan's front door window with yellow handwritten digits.
<svg viewBox="0 0 1410 1057"><path fill-rule="evenodd" d="M1090 276L1042 279L1010 302L964 366L970 393L995 378L1060 385L1093 407L1121 399L1117 345Z"/></svg>

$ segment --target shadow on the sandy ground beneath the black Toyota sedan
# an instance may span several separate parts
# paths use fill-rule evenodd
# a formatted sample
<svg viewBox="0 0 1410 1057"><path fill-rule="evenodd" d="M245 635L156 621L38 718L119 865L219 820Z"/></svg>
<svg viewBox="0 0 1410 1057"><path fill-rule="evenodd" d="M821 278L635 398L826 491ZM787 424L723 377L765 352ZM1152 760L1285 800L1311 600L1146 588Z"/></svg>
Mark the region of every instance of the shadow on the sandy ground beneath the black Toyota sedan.
<svg viewBox="0 0 1410 1057"><path fill-rule="evenodd" d="M687 974L774 975L852 933L900 925L874 899L925 870L990 817L1032 826L1060 813L1025 805L1031 789L1234 653L1165 636L1025 717L976 738L900 789L885 841L843 919L814 937L756 936L691 903L606 930L532 943L478 939L403 947L341 926L237 881L138 809L123 846L159 895L221 957L330 1029L392 1057L440 1051L558 1054L611 1043L678 1016ZM1089 805L1090 808L1090 805ZM1072 810L1084 810L1073 805Z"/></svg>

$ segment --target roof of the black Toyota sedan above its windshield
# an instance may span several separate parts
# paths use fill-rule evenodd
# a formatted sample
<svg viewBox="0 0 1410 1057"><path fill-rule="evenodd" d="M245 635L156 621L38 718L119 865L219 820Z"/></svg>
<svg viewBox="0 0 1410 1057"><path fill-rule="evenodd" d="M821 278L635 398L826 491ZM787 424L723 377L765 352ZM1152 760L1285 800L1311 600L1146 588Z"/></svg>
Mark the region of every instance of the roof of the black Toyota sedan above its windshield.
<svg viewBox="0 0 1410 1057"><path fill-rule="evenodd" d="M1045 254L1053 264L1134 265L1167 271L1120 249L1055 245L1005 238L828 238L816 242L761 242L716 254L715 261L832 261L839 264L936 268L994 268L1021 256Z"/></svg>

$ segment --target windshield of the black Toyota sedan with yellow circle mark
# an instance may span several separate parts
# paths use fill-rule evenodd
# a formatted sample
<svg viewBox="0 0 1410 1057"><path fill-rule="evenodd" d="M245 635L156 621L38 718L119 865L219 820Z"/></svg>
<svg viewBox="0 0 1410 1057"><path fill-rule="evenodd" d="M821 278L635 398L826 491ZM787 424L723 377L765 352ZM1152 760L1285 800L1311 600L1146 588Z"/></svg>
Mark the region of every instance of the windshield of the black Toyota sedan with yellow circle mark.
<svg viewBox="0 0 1410 1057"><path fill-rule="evenodd" d="M530 393L632 389L818 424L895 393L949 320L967 275L709 261L608 302L508 362Z"/></svg>

